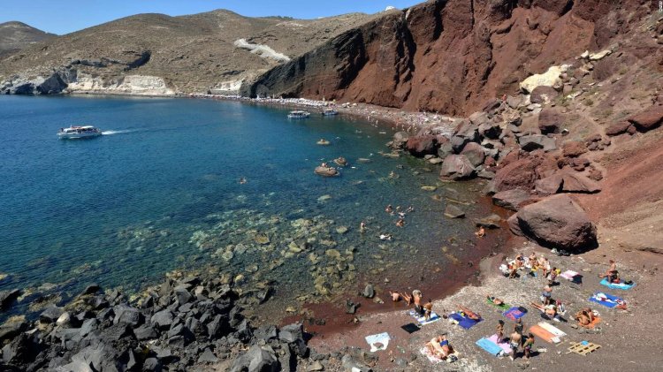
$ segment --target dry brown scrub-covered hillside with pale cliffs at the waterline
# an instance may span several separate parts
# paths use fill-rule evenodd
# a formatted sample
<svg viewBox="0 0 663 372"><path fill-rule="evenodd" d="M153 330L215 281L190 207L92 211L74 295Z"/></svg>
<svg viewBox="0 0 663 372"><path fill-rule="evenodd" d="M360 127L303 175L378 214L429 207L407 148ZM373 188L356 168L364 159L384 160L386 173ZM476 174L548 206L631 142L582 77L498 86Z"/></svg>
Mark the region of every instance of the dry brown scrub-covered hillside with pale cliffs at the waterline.
<svg viewBox="0 0 663 372"><path fill-rule="evenodd" d="M0 60L0 91L237 93L243 80L367 19L370 16L358 13L315 20L248 18L231 11L182 17L141 14L5 57Z"/></svg>

